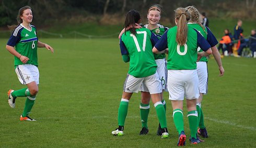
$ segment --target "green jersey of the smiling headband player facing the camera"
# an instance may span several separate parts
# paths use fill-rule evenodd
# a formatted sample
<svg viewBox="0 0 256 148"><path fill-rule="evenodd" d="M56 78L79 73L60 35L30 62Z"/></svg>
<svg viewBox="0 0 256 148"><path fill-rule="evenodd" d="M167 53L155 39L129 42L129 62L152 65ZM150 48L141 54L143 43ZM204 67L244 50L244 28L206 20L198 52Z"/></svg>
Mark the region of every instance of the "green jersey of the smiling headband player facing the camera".
<svg viewBox="0 0 256 148"><path fill-rule="evenodd" d="M147 28L148 24L145 24L145 28ZM168 30L167 27L162 26L161 24L158 24L159 28L152 29L151 31L156 34L157 38L160 39L162 35ZM155 54L154 53L155 59L163 59L166 57L165 53L162 54Z"/></svg>

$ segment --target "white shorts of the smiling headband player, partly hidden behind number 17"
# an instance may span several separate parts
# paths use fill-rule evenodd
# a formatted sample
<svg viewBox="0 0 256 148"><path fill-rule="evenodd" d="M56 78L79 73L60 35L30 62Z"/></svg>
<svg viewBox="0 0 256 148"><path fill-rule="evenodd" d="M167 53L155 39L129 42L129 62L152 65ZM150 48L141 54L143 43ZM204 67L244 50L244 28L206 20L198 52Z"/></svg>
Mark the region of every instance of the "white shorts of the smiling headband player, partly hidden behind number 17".
<svg viewBox="0 0 256 148"><path fill-rule="evenodd" d="M157 64L156 71L158 73L159 79L162 84L162 90L165 90L166 92L168 92L168 90L167 90L167 75L168 75L167 60L166 60L166 58L156 59L156 64ZM142 87L141 87L141 89L139 89L139 91L149 92L144 83L142 83Z"/></svg>

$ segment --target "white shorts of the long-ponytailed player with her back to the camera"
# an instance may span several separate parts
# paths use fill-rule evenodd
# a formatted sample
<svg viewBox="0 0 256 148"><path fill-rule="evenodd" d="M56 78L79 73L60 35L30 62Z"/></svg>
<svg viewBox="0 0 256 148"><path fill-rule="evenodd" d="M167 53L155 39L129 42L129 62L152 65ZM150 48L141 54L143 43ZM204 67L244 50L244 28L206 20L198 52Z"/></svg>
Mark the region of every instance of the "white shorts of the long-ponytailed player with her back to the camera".
<svg viewBox="0 0 256 148"><path fill-rule="evenodd" d="M199 80L196 69L168 70L169 100L188 100L199 97Z"/></svg>

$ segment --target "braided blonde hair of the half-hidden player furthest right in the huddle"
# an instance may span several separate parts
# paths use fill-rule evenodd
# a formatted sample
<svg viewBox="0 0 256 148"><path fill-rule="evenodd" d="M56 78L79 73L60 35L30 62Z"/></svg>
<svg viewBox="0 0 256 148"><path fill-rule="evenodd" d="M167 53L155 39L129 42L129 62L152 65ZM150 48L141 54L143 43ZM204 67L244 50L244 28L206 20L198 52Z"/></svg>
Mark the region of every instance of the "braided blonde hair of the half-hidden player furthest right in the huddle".
<svg viewBox="0 0 256 148"><path fill-rule="evenodd" d="M204 32L207 34L207 32L205 31L206 28L200 22L202 20L202 17L201 17L201 14L199 13L199 11L194 6L188 6L188 7L186 7L186 9L188 9L191 13L190 22L196 22L197 24L199 24L203 28Z"/></svg>

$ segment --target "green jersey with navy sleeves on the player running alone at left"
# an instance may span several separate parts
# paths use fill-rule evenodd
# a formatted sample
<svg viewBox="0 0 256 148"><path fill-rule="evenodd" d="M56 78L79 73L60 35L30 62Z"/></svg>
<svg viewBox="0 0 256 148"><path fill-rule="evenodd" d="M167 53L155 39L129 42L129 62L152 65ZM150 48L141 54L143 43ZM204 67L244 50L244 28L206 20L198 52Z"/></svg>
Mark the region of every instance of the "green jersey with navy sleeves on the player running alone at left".
<svg viewBox="0 0 256 148"><path fill-rule="evenodd" d="M29 58L26 64L32 64L38 66L38 57L37 57L37 30L34 26L30 25L31 30L25 28L20 24L11 34L10 39L7 45L15 46L15 50L20 53L22 56ZM22 65L24 63L15 56L14 66Z"/></svg>

